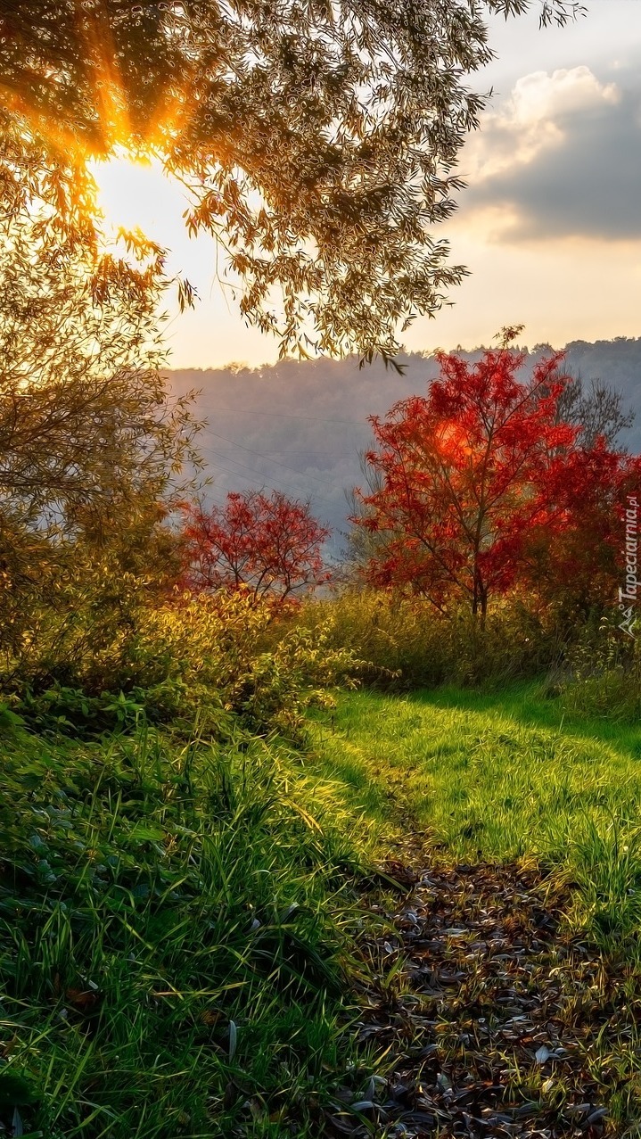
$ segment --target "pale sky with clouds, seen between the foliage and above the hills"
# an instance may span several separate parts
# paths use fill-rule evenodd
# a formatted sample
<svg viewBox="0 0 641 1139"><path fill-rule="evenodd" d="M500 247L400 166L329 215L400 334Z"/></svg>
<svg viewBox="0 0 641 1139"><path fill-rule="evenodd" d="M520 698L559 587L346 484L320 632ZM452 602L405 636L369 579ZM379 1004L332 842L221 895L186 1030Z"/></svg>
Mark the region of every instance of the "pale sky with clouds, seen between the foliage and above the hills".
<svg viewBox="0 0 641 1139"><path fill-rule="evenodd" d="M536 5L491 22L496 59L474 77L493 89L459 162L469 185L435 229L470 276L434 319L404 333L411 351L474 347L506 325L524 343L641 336L641 0L586 0L564 28L539 28ZM170 311L174 368L273 362L277 342L241 320L211 238L189 239L187 200L158 166L98 172L109 221L139 224L196 286Z"/></svg>

